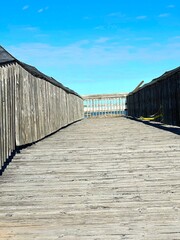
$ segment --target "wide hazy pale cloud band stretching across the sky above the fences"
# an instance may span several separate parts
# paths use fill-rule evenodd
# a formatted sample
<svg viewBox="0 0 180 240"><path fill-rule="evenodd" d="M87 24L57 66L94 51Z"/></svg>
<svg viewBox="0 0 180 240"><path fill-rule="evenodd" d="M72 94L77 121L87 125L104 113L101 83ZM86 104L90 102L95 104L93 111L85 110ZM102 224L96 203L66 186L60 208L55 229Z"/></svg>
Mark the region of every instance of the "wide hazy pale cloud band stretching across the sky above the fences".
<svg viewBox="0 0 180 240"><path fill-rule="evenodd" d="M179 36L177 36L179 37ZM147 39L147 38L146 38ZM98 40L98 39L97 39ZM25 61L35 66L48 66L64 68L69 66L109 66L111 64L121 64L129 61L179 61L180 43L179 39L172 43L152 43L148 45L123 45L113 44L113 41L99 38L97 40L81 40L66 46L52 46L42 43L21 44L9 47L19 60ZM87 45L88 44L88 45ZM88 47L87 47L88 46ZM47 60L48 59L48 60Z"/></svg>

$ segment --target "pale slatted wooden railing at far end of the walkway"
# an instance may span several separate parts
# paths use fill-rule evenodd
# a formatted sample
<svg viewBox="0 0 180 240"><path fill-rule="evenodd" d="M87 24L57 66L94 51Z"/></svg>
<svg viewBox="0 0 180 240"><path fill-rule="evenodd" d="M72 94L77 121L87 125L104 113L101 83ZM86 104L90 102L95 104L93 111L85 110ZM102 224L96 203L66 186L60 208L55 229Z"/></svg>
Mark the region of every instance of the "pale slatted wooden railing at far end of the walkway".
<svg viewBox="0 0 180 240"><path fill-rule="evenodd" d="M127 93L85 95L84 117L106 117L126 114Z"/></svg>

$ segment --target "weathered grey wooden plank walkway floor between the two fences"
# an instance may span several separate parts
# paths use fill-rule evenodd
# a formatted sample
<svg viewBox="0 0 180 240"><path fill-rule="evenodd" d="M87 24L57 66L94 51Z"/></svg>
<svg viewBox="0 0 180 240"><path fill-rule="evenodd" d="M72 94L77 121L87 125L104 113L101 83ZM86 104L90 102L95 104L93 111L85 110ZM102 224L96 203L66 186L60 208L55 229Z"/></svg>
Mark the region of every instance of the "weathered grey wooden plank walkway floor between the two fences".
<svg viewBox="0 0 180 240"><path fill-rule="evenodd" d="M180 239L180 136L89 119L22 150L0 177L0 239Z"/></svg>

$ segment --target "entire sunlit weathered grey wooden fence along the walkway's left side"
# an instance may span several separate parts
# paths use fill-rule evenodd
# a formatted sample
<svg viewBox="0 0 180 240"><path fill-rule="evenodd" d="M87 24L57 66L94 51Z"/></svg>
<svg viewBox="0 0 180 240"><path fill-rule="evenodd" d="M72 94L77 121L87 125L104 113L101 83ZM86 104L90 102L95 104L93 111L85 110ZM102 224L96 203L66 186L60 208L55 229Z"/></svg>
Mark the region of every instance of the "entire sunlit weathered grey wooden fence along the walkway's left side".
<svg viewBox="0 0 180 240"><path fill-rule="evenodd" d="M17 146L83 118L83 100L54 79L17 62L0 66L0 172ZM31 69L33 70L33 69ZM35 76L37 75L37 76Z"/></svg>

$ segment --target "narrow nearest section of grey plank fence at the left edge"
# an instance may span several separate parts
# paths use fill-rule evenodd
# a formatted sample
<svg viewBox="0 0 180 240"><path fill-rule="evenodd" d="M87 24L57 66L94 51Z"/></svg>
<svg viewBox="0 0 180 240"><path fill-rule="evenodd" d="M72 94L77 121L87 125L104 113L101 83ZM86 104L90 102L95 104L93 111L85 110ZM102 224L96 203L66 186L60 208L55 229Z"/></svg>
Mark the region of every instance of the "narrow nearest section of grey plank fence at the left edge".
<svg viewBox="0 0 180 240"><path fill-rule="evenodd" d="M11 64L0 67L0 170L15 148L15 87Z"/></svg>

